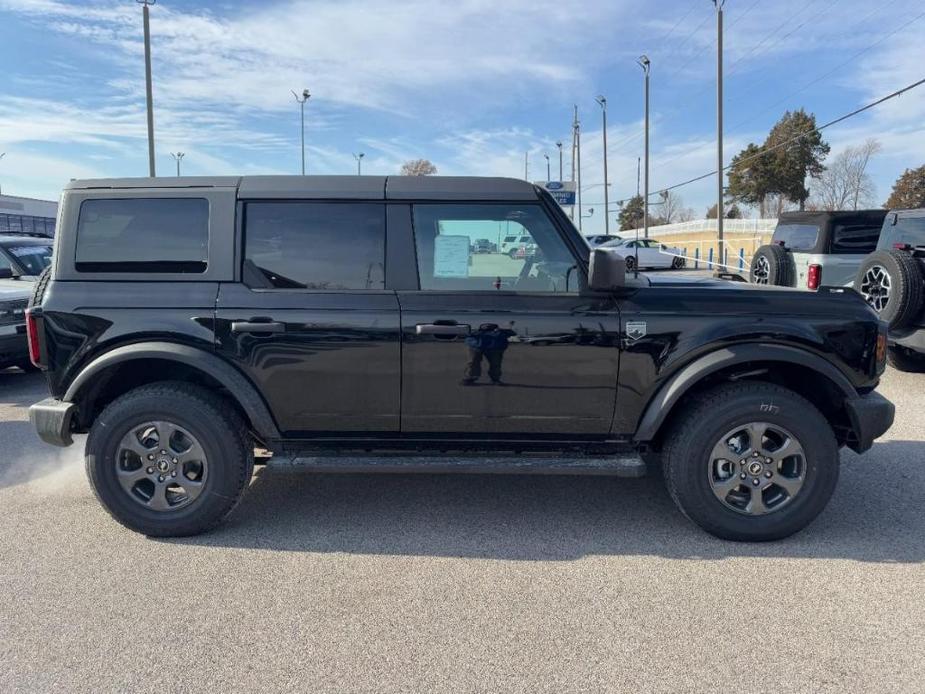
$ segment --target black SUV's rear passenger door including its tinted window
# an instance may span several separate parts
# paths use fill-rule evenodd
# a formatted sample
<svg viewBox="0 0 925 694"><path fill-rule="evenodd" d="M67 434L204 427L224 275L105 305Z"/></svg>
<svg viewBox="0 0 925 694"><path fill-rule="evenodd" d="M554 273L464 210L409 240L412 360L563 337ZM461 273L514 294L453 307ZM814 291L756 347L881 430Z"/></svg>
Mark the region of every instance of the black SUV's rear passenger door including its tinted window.
<svg viewBox="0 0 925 694"><path fill-rule="evenodd" d="M396 432L398 300L382 202L242 205L242 282L218 298L219 349L287 436Z"/></svg>

